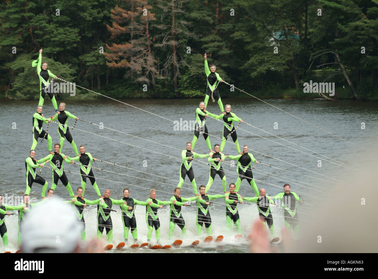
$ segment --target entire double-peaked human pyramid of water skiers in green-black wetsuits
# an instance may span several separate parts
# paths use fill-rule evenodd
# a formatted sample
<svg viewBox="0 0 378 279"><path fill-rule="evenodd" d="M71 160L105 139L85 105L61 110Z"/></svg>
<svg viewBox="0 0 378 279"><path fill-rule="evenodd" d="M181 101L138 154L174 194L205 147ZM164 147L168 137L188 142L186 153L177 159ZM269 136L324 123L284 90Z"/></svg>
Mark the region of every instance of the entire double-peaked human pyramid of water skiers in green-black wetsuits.
<svg viewBox="0 0 378 279"><path fill-rule="evenodd" d="M302 203L302 200L294 193L290 191L290 185L284 185L284 192L277 194L274 197L265 195L265 189L257 189L257 185L255 183L253 173L252 173L252 163L256 164L259 163L252 155L252 153L248 153L248 145L243 146L243 152L240 152L239 142L237 139L236 128L234 127L234 122L243 122L238 116L231 112L231 105L226 104L225 108L223 109L223 104L220 99L220 95L218 92L218 84L219 82L224 82L218 73L216 73L216 66L211 65L210 68L208 67L206 53L204 54L204 67L205 73L207 76L207 89L206 89L206 96L204 102L200 102L199 107L196 109L196 121L195 121L195 130L194 130L194 137L192 142L186 143L186 149L181 152L182 163L180 167L180 181L177 187L174 189L174 196L170 198L169 201L160 201L156 199L156 191L154 189L150 190L150 198L146 200L146 202L136 200L134 198L130 198L129 194L130 191L128 188L123 190L123 197L120 200L115 200L110 198L110 190L106 189L104 195L101 195L99 191L99 187L96 183L95 175L91 166L91 162L96 162L96 158L93 158L89 152L85 152L85 146L79 146L79 151L77 150L76 144L72 138L70 133L70 129L68 126L68 118L75 119L76 121L79 120L76 116L71 114L70 112L66 111L66 104L60 103L59 110L57 108L57 103L54 97L53 90L49 90L50 78L57 78L53 73L47 70L47 63L42 63L42 49L39 50L39 58L34 60L32 63L33 67L37 67L37 74L40 80L40 99L39 104L37 106L37 112L33 115L33 145L31 147L29 157L25 160L25 167L26 167L26 191L23 195L23 203L20 206L8 206L2 205L2 196L0 195L0 233L3 239L4 245L8 245L8 237L7 237L7 230L5 226L5 215L9 215L12 210L19 211L19 220L18 220L18 244L20 245L22 240L22 234L20 233L20 226L22 223L25 222L25 217L27 218L27 212L32 209L34 206L38 206L41 203L48 202L48 200L53 196L54 190L57 187L58 180L64 184L67 188L68 194L71 196L71 200L65 201L65 203L71 203L74 211L77 214L77 218L81 225L81 237L85 240L85 221L84 221L84 207L90 205L97 205L97 236L101 238L102 233L105 229L107 240L109 243L113 241L113 225L112 225L112 218L110 216L110 212L115 211L112 209L113 205L119 205L122 211L122 223L124 227L124 241L127 243L129 230L131 229L131 234L134 240L133 247L139 246L138 244L138 235L137 235L137 226L136 226L136 219L135 219L135 206L142 205L146 206L146 222L148 228L147 234L147 243L143 243L142 246L151 246L150 240L152 236L153 229L155 228L155 236L157 245L160 245L160 220L158 217L158 208L162 208L164 205L170 205L170 220L169 220L169 233L168 239L172 238L172 234L174 232L175 226L181 229L183 236L186 234L185 228L185 221L181 214L181 206L187 206L186 202L195 201L197 207L197 218L196 218L196 227L197 227L197 236L201 236L203 225L206 228L206 233L208 236L211 236L211 216L209 213L209 204L212 200L217 198L223 198L225 200L226 205L226 225L229 231L232 229L232 224L234 224L237 232L239 233L237 237L241 237L241 228L240 228L240 217L238 212L238 205L239 203L243 203L243 201L248 202L255 202L257 203L257 208L259 211L259 218L265 224L268 224L270 229L272 241L278 241L279 238L275 236L274 226L273 226L273 216L271 214L270 205L275 204L278 205L278 201L280 200L281 206L283 208L283 215L285 219L285 225L287 227L292 227L294 229L298 229L298 215L296 213L296 201ZM46 93L50 97L53 106L55 108L56 114L51 116L50 118L45 118L42 114L43 110L43 102ZM213 101L217 101L222 114L214 115L206 110L208 105L209 98L212 98ZM215 96L215 98L214 98ZM211 142L209 138L208 129L206 127L206 118L211 117L214 119L223 119L224 126L223 126L223 135L221 144L215 144L214 150L211 148ZM57 120L58 122L54 122ZM52 138L48 134L48 126L50 122L54 122L58 124L58 133L60 136L60 142L54 144L54 151L52 150ZM47 123L46 131L43 130L42 125L43 123ZM76 124L76 122L75 122ZM204 140L206 141L206 145L209 148L209 154L198 154L194 152L195 144L198 140L200 133L203 134ZM228 137L231 136L232 140L234 141L236 150L238 155L224 155L223 149L225 147L226 141ZM36 146L37 140L39 138L46 139L48 142L48 151L49 155L46 157L36 160L34 157L36 156ZM62 152L63 144L65 139L73 147L74 153L76 157L69 157L64 155ZM209 180L206 186L201 185L197 186L195 183L194 171L192 168L192 161L197 160L195 158L208 158L208 162L210 163L210 174ZM237 174L238 178L235 183L229 184L229 189L226 189L226 176L223 168L221 166L222 162L227 162L226 158L231 160L237 161ZM79 163L75 163L75 161L79 161ZM99 160L102 161L102 160ZM81 187L77 188L76 195L74 195L72 187L68 181L68 178L65 174L63 168L64 162L70 164L78 164L80 165L80 175L81 175ZM106 161L103 161L108 163ZM46 163L50 163L50 167L45 166ZM52 183L51 188L47 191L47 196L45 197L46 190L48 188L48 182L36 174L36 169L41 167L48 167L52 171ZM95 168L96 169L96 168ZM211 188L215 175L218 174L220 179L222 180L222 187L224 194L217 194L217 195L208 195L207 192ZM189 177L191 181L194 196L189 198L181 197L181 186L184 183L184 179L186 175ZM84 198L85 186L87 183L87 178L90 180L93 188L98 195L97 200L87 200ZM252 189L254 190L255 197L242 197L239 194L240 185L242 180L246 179ZM42 194L41 202L37 203L30 203L30 191L33 183L36 182L42 185ZM199 190L199 194L197 191Z"/></svg>

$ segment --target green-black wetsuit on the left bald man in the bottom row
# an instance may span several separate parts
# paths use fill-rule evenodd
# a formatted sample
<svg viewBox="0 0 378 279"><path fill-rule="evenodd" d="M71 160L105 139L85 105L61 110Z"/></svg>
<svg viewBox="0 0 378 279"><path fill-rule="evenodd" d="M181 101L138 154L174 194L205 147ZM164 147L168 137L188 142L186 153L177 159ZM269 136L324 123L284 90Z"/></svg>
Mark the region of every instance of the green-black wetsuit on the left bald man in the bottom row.
<svg viewBox="0 0 378 279"><path fill-rule="evenodd" d="M123 200L115 200L113 198L104 198L104 202L97 204L97 237L101 238L104 228L106 230L106 238L109 243L113 241L113 223L110 217L112 205L122 205Z"/></svg>

